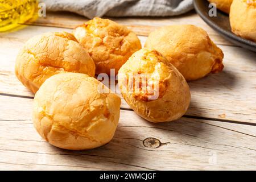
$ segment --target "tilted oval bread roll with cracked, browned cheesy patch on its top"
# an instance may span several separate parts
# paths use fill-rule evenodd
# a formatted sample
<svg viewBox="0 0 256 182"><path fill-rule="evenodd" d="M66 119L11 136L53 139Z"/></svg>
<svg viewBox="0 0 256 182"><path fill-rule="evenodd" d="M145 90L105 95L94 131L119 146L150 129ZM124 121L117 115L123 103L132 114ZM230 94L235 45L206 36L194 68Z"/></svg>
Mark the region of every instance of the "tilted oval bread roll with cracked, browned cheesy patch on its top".
<svg viewBox="0 0 256 182"><path fill-rule="evenodd" d="M119 69L118 85L131 109L151 122L180 118L191 94L184 77L159 52L143 48Z"/></svg>

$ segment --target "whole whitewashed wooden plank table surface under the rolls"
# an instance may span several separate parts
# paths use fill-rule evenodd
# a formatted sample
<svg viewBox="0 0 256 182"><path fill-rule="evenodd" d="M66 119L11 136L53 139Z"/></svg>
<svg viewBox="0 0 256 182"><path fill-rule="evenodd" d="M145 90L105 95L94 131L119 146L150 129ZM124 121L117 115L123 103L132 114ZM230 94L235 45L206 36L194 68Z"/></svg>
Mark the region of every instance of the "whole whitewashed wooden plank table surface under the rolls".
<svg viewBox="0 0 256 182"><path fill-rule="evenodd" d="M175 122L150 123L122 100L113 140L94 150L68 151L36 133L34 95L14 75L15 58L27 39L49 31L71 32L88 19L68 13L22 30L0 34L0 169L253 169L256 170L256 53L226 41L194 12L174 18L118 18L142 44L156 27L195 24L224 52L224 71L189 82L192 100Z"/></svg>

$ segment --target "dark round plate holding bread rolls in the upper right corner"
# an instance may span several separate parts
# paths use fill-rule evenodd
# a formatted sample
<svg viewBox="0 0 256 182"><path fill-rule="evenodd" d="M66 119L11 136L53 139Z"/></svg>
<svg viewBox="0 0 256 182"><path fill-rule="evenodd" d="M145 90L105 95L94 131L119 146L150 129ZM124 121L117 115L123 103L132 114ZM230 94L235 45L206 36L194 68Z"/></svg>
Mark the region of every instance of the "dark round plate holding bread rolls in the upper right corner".
<svg viewBox="0 0 256 182"><path fill-rule="evenodd" d="M243 39L240 36L237 36L232 33L230 24L229 24L229 15L222 13L222 11L217 10L217 16L210 17L208 11L210 10L209 2L207 0L194 0L194 6L196 12L201 16L201 18L214 30L219 32L225 39L228 39L230 42L241 46L251 51L256 52L256 43Z"/></svg>

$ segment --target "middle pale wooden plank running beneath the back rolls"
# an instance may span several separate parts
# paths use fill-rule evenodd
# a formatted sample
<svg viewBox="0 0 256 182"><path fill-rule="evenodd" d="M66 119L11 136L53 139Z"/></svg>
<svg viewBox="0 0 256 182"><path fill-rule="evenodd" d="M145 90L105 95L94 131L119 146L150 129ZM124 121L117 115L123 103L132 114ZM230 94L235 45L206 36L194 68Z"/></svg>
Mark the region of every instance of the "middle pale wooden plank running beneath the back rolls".
<svg viewBox="0 0 256 182"><path fill-rule="evenodd" d="M48 31L71 31L66 28L28 26L23 30L0 34L0 93L33 97L15 77L16 55L31 36ZM146 37L139 36L142 44ZM225 54L224 71L189 82L192 100L186 115L256 123L256 53L240 47L221 46ZM122 100L122 107L129 105Z"/></svg>

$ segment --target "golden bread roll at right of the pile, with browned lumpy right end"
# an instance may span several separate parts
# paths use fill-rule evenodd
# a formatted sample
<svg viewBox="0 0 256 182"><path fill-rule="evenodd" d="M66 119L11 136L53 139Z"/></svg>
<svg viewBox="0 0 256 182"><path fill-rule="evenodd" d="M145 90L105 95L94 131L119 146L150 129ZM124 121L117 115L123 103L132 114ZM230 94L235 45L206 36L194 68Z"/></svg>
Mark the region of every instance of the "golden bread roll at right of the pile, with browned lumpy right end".
<svg viewBox="0 0 256 182"><path fill-rule="evenodd" d="M202 28L193 25L166 26L151 32L145 47L162 53L185 80L197 80L222 71L223 53Z"/></svg>

